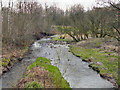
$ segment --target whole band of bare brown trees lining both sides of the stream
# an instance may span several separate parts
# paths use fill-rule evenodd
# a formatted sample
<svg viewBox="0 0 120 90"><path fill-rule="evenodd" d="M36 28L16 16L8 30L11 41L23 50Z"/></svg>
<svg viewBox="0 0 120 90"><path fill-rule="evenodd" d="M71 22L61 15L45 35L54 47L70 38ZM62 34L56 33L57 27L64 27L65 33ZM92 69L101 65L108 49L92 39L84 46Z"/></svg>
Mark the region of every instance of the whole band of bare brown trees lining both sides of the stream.
<svg viewBox="0 0 120 90"><path fill-rule="evenodd" d="M120 11L112 5L88 11L80 4L66 11L56 6L45 5L43 8L37 2L18 2L16 9L12 6L2 7L3 46L26 46L35 36L53 34L54 29L69 34L75 41L89 36L111 36L120 41Z"/></svg>

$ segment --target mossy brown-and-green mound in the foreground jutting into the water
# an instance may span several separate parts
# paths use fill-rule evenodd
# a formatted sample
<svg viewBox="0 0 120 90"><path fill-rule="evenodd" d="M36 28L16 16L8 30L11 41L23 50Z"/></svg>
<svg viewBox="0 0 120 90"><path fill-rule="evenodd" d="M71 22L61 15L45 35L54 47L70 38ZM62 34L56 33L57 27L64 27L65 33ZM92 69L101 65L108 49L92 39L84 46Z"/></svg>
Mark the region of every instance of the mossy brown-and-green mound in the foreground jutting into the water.
<svg viewBox="0 0 120 90"><path fill-rule="evenodd" d="M70 88L59 69L50 64L50 60L39 57L27 67L19 88Z"/></svg>

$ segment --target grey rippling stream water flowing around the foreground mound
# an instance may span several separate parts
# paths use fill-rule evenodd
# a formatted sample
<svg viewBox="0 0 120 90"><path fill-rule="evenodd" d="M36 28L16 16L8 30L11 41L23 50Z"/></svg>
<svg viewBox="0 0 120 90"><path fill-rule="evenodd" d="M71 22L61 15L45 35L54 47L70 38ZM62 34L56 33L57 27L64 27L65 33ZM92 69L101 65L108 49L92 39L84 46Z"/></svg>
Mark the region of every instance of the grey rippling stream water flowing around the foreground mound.
<svg viewBox="0 0 120 90"><path fill-rule="evenodd" d="M46 57L51 64L57 66L63 77L72 88L112 88L109 81L88 67L88 63L69 52L66 42L52 41L51 38L42 38L30 48L32 51L24 60L16 64L9 72L2 76L2 87L11 88L22 77L26 67L37 57Z"/></svg>

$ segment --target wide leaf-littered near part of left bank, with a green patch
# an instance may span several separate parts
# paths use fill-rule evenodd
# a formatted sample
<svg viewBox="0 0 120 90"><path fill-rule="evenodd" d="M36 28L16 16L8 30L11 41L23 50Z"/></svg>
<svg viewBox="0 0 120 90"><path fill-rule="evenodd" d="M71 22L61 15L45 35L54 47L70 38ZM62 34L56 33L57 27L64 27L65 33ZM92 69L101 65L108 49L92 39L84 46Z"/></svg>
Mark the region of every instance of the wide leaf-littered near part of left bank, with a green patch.
<svg viewBox="0 0 120 90"><path fill-rule="evenodd" d="M21 61L28 52L29 47L14 48L13 50L5 50L2 58L2 71L7 72L15 63Z"/></svg>

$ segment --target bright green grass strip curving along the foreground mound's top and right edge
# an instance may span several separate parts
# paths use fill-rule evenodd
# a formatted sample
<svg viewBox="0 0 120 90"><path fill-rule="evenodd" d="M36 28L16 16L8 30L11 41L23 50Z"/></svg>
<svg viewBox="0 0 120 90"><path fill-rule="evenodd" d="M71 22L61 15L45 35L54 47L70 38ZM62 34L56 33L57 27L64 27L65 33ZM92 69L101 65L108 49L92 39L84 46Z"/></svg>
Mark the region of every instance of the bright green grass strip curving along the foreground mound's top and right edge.
<svg viewBox="0 0 120 90"><path fill-rule="evenodd" d="M44 57L39 57L36 59L36 61L33 64L31 64L27 68L27 70L30 70L37 66L44 67L46 70L50 72L49 76L52 77L57 88L70 88L69 83L62 77L59 69L51 65L49 59L46 59Z"/></svg>

